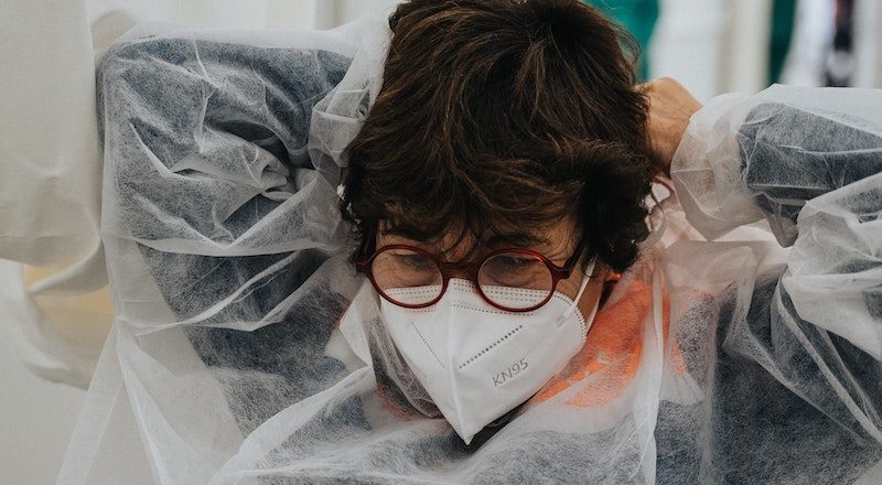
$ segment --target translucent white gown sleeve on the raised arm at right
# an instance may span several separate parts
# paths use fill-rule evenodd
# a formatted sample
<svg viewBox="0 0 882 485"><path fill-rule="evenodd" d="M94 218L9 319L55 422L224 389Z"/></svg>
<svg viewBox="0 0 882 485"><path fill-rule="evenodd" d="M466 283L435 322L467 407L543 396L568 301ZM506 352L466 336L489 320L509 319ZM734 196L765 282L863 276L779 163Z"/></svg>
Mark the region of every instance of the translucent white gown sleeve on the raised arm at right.
<svg viewBox="0 0 882 485"><path fill-rule="evenodd" d="M882 359L882 90L775 86L697 112L671 163L708 239L761 218L802 319Z"/></svg>

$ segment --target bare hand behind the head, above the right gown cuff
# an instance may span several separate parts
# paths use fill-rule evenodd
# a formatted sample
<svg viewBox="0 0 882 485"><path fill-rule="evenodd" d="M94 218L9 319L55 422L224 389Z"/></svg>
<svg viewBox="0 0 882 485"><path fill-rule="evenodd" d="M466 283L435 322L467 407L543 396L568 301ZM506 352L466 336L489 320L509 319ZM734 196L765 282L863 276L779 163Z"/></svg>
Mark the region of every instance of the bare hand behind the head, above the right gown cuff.
<svg viewBox="0 0 882 485"><path fill-rule="evenodd" d="M680 144L689 119L701 104L680 83L670 77L642 84L638 89L649 100L647 136L655 162L665 175L670 175L670 161Z"/></svg>

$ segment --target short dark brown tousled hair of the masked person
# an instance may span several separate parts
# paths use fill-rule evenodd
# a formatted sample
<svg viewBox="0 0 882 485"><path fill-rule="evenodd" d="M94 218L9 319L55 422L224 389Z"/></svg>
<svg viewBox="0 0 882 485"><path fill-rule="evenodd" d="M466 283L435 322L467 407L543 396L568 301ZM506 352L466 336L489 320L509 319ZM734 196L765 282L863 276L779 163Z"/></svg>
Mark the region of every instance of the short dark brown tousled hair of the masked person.
<svg viewBox="0 0 882 485"><path fill-rule="evenodd" d="M655 169L632 37L577 0L411 0L389 25L383 89L346 151L355 260L381 220L477 246L569 217L583 262L635 262Z"/></svg>

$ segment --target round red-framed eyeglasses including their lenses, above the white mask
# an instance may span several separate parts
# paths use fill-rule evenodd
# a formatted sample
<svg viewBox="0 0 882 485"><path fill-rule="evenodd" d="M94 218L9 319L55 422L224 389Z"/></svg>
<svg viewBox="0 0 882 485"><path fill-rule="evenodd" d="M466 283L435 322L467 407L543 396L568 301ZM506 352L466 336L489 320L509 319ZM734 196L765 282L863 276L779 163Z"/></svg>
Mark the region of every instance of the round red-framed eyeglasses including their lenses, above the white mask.
<svg viewBox="0 0 882 485"><path fill-rule="evenodd" d="M355 266L380 297L399 306L435 304L447 291L452 271L462 271L491 305L529 312L551 300L558 282L570 277L576 262L560 267L523 248L494 250L475 262L445 262L415 246L389 245Z"/></svg>

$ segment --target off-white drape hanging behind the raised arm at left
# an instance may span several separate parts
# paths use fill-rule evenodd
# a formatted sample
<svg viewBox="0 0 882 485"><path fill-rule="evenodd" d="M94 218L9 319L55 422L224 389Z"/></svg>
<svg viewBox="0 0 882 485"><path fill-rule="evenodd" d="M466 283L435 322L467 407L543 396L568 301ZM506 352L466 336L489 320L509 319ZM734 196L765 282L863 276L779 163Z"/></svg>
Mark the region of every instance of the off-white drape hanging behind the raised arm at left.
<svg viewBox="0 0 882 485"><path fill-rule="evenodd" d="M138 22L330 28L389 1L0 1L0 309L40 376L85 387L112 321L95 56Z"/></svg>

